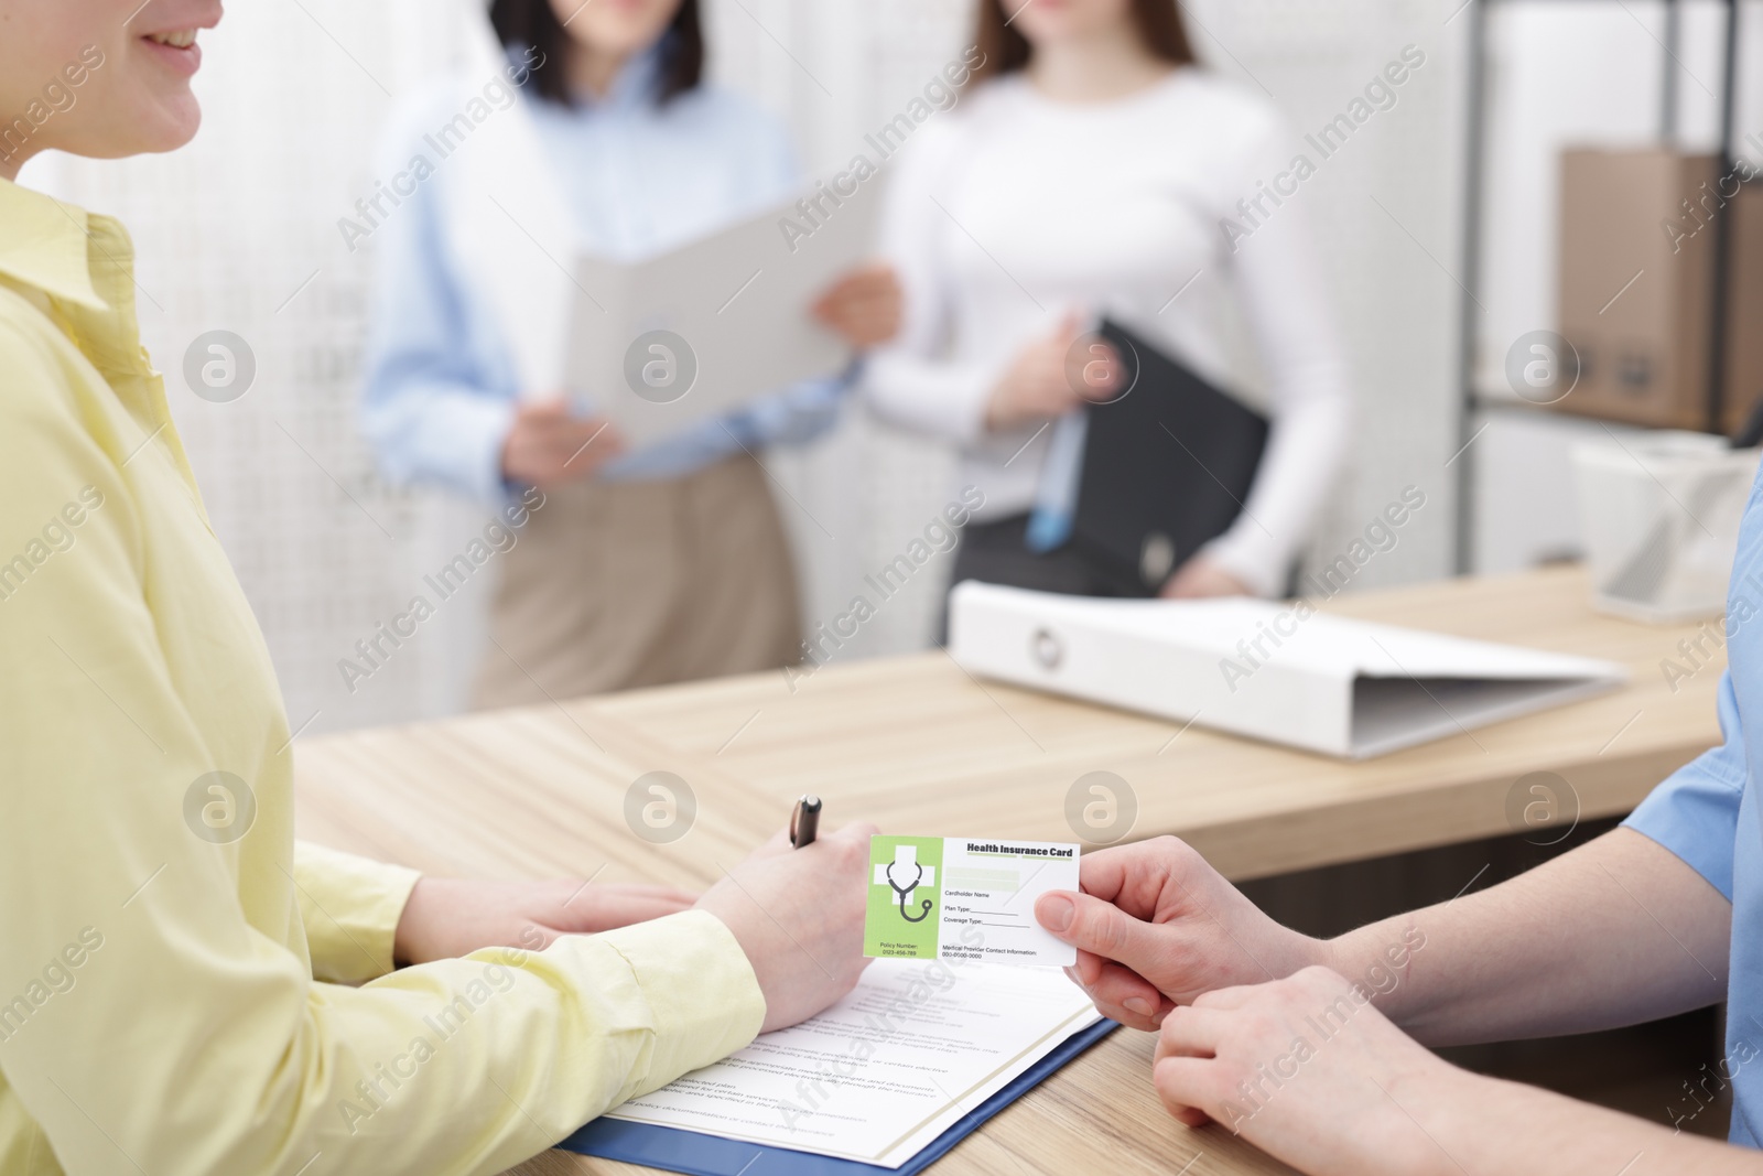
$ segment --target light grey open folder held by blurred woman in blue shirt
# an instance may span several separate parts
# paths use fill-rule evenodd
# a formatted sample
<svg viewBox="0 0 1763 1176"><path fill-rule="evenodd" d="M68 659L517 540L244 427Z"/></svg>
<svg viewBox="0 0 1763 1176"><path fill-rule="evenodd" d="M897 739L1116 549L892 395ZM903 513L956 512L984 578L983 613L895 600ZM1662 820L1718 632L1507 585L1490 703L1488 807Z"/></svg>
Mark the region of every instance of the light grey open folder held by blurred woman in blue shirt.
<svg viewBox="0 0 1763 1176"><path fill-rule="evenodd" d="M785 220L804 224L792 201L643 261L578 257L571 395L636 448L797 381L836 376L850 347L809 309L869 256L880 187L869 180L836 208L823 199L827 215L809 236L783 231ZM638 346L649 331L672 331L688 351L668 340ZM640 381L642 395L633 372L656 374Z"/></svg>

